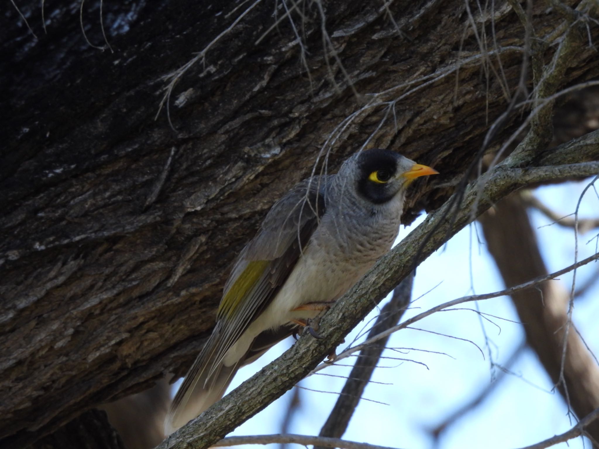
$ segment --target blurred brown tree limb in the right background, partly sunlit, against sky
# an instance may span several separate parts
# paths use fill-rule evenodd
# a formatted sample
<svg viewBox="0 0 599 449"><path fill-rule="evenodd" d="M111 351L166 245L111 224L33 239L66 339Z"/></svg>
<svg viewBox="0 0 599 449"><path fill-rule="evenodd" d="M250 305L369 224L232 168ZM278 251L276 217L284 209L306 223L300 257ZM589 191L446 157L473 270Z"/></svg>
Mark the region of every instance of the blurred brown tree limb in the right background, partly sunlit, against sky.
<svg viewBox="0 0 599 449"><path fill-rule="evenodd" d="M547 274L537 245L536 235L519 195L500 201L480 217L489 253L507 287ZM567 393L559 381L564 329L570 295L559 281L541 284L540 290L528 290L512 296L520 321L524 323L527 343L536 352L547 374L569 401L579 419L599 408L599 366L577 335L568 332L564 378ZM599 422L586 431L599 441Z"/></svg>

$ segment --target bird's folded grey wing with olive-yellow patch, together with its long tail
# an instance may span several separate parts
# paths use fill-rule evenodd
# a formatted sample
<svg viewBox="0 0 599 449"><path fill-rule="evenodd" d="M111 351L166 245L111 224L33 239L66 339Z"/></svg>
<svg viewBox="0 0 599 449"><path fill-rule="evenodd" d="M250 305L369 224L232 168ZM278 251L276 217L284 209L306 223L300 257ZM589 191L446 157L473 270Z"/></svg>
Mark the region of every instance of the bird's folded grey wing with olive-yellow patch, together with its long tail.
<svg viewBox="0 0 599 449"><path fill-rule="evenodd" d="M273 205L258 234L241 251L225 284L216 327L173 400L167 428L174 424L178 427L190 416L197 416L224 392L237 365L225 367L222 360L254 318L273 301L294 269L325 213L326 185L330 179L319 176L298 183ZM256 267L260 271L253 275ZM243 289L239 284L244 284ZM229 292L236 285L237 290L244 293L234 301L234 295ZM276 336L268 341L276 342L280 338L282 336ZM261 336L250 345L246 362L259 357L270 347L266 342L261 344L260 339ZM243 362L242 357L240 363Z"/></svg>

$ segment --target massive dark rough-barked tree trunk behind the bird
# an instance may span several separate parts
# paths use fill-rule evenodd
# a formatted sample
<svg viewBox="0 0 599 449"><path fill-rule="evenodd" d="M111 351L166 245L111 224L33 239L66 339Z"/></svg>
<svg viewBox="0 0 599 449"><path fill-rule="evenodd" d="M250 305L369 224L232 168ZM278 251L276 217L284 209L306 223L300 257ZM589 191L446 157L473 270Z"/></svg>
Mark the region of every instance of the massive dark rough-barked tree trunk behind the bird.
<svg viewBox="0 0 599 449"><path fill-rule="evenodd" d="M78 1L19 5L38 38L15 9L0 26L3 447L183 374L232 258L320 148L329 170L364 142L435 165L404 219L441 204L518 86L525 35L502 1L471 19L463 0L100 5L83 27L101 43L102 12L114 53L86 43ZM543 4L532 24L547 43L567 26ZM597 77L574 50L564 83Z"/></svg>

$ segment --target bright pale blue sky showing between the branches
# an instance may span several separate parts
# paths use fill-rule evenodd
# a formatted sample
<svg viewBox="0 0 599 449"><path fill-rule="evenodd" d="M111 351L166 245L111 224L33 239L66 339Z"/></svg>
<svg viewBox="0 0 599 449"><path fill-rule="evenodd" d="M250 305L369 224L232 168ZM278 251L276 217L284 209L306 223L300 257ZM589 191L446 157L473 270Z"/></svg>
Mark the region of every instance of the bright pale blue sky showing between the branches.
<svg viewBox="0 0 599 449"><path fill-rule="evenodd" d="M577 199L589 181L590 179L540 187L535 190L534 195L565 216L574 212ZM580 218L599 216L599 196L593 189L589 189L583 198L579 214ZM537 228L537 239L547 269L553 272L574 263L573 229L558 225L546 226L551 223L550 220L537 211L530 211L529 215L533 226ZM422 222L423 218L419 217L410 227L401 227L398 241ZM480 239L484 239L480 226L476 225L477 230L474 226L463 229L446 247L432 254L419 266L412 294L413 300L419 299L410 305L403 319L442 302L470 295L473 290L474 293L481 294L504 288L484 242L479 244L477 240L477 234ZM580 236L578 260L595 253L596 239L588 244L587 241L597 235L597 232L595 229ZM586 280L597 277L598 273L597 262L580 268L577 271L577 285L585 284ZM571 279L571 273L560 278L568 289ZM573 319L586 343L599 356L598 296L599 282L576 299ZM384 302L380 307L383 304ZM501 371L491 369L491 358L494 363L505 365L524 341L521 324L512 322L518 321L518 315L511 300L507 297L488 299L480 301L479 308L484 313L505 320L491 318L495 324L483 320L483 333L479 315L474 311L446 311L432 314L414 326L460 339L425 330L402 329L394 333L389 339L388 347L416 348L421 351L410 350L406 354L398 354L397 351L386 350L383 353L383 357L400 356L414 362L381 360L380 368L374 371L372 379L376 383L370 383L365 389L363 399L343 438L406 449L505 449L534 444L570 429L575 423L567 416L567 406L559 393L553 391L553 384L533 351L520 350L510 366L512 374L501 376ZM373 317L376 317L376 310L358 326L358 330L354 330L346 338L346 342L352 341L359 329ZM489 347L485 345L485 333ZM282 354L292 342L291 339L281 342L257 362L240 369L229 391ZM337 352L344 347L338 348ZM354 360L355 358L349 358L341 363L351 364ZM289 433L319 433L345 381L325 374L347 375L350 369L330 366L321 371L322 374L308 377L298 384L301 387L300 403L289 424ZM497 378L500 380L479 406L447 427L440 438L432 436L431 429L453 411L476 398ZM292 394L287 392L230 435L280 433ZM583 441L577 438L570 440L569 446L564 443L553 447L579 449L583 448ZM584 447L590 447L588 441Z"/></svg>

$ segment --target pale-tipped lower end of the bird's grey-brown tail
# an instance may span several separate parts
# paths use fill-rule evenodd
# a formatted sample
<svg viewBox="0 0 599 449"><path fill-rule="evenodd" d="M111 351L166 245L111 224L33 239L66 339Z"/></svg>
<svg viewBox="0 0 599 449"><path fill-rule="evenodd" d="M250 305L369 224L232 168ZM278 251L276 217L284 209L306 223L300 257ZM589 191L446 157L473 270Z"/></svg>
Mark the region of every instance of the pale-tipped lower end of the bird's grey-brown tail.
<svg viewBox="0 0 599 449"><path fill-rule="evenodd" d="M168 410L167 418L164 420L165 435L170 435L179 427L184 426L222 398L235 372L240 368L239 363L232 366L225 366L221 363L212 374L210 374L210 369L201 369L193 375L196 363L187 373Z"/></svg>

